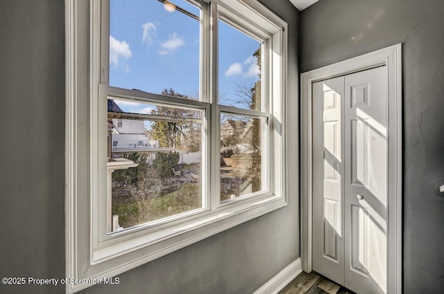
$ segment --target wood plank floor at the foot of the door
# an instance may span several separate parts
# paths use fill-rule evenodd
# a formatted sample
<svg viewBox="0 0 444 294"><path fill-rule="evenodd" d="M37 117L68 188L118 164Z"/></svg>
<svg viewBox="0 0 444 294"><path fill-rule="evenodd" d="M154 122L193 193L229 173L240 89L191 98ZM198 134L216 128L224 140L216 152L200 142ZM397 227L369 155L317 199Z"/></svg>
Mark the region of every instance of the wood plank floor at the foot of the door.
<svg viewBox="0 0 444 294"><path fill-rule="evenodd" d="M278 294L355 294L318 273L300 273Z"/></svg>

